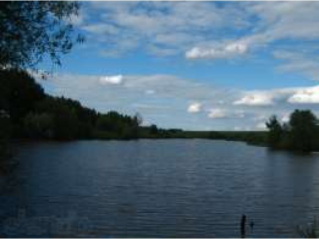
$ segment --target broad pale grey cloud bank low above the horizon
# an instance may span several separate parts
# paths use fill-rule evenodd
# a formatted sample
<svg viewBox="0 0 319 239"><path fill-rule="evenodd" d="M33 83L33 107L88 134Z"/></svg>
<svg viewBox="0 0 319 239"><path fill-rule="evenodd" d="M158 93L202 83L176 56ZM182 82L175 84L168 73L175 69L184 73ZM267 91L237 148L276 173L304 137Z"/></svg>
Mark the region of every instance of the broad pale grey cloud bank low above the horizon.
<svg viewBox="0 0 319 239"><path fill-rule="evenodd" d="M109 79L116 79L118 76L121 76L121 80ZM291 113L297 108L297 102L289 102L289 99L295 99L296 95L303 97L303 100L299 100L299 109L319 112L319 104L308 104L315 103L314 99L310 100L309 97L318 97L319 86L242 92L217 88L209 83L198 84L173 75L118 76L105 78L105 75L57 74L53 75L52 79L38 82L45 86L49 94L79 100L101 112L117 110L133 115L138 111L144 119L160 127L209 127L212 130L229 130L238 126L244 130L249 126L249 129L253 130L257 122L265 122L273 114L281 119L285 114ZM112 83L109 83L110 81ZM115 84L115 87L107 87L107 84ZM271 107L256 107L263 105L265 101L247 97L251 95L264 96L255 97L258 99L267 96L266 99L272 103L269 105ZM223 104L220 104L220 101ZM236 101L242 104L234 104ZM187 113L200 114L189 117Z"/></svg>

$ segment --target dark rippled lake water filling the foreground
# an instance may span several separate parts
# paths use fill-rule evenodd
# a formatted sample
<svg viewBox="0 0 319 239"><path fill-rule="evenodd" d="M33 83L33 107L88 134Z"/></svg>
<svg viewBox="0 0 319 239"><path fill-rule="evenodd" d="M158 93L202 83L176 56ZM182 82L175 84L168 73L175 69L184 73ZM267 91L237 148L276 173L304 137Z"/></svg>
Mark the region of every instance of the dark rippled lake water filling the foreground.
<svg viewBox="0 0 319 239"><path fill-rule="evenodd" d="M9 237L294 237L319 215L319 155L213 140L16 145Z"/></svg>

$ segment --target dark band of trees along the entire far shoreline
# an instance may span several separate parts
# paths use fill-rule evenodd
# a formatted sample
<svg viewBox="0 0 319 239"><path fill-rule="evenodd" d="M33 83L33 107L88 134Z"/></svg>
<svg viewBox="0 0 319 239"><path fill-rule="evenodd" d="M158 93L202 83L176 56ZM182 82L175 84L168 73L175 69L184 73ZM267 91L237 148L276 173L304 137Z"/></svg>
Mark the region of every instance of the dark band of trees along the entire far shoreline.
<svg viewBox="0 0 319 239"><path fill-rule="evenodd" d="M142 117L110 111L102 114L78 101L44 93L32 76L20 70L0 70L0 140L207 138L245 141L274 149L319 150L318 119L296 110L281 123L272 116L268 131L184 131L142 126Z"/></svg>

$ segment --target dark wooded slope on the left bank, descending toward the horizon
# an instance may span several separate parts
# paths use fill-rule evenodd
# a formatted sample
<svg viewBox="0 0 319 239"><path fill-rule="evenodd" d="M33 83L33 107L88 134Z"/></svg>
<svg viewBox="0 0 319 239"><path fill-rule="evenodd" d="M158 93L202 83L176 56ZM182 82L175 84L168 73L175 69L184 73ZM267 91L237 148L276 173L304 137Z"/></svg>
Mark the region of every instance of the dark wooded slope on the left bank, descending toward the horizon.
<svg viewBox="0 0 319 239"><path fill-rule="evenodd" d="M14 138L84 139L139 137L142 118L115 111L106 114L78 101L44 93L23 70L0 70L2 133Z"/></svg>

